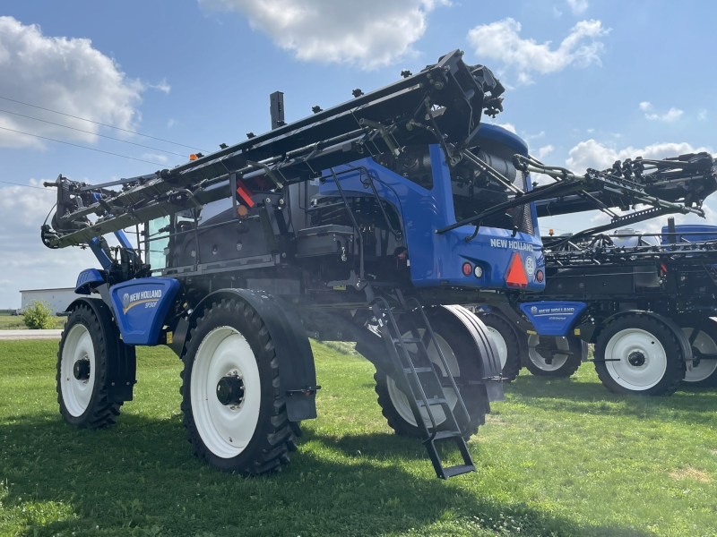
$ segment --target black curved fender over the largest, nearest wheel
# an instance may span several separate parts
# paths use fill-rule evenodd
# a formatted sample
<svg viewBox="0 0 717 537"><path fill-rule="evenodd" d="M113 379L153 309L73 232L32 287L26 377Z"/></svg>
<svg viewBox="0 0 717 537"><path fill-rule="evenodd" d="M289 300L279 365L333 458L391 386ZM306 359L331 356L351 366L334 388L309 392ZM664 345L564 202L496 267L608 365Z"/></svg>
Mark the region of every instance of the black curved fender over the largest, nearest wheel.
<svg viewBox="0 0 717 537"><path fill-rule="evenodd" d="M188 328L194 324L194 318L206 307L215 302L220 303L222 299L234 298L254 308L269 330L276 358L279 360L279 389L286 402L289 422L314 419L318 389L314 353L308 342L306 328L290 303L263 291L229 288L214 291L207 294L194 308L184 327L184 333L178 335L182 345L186 341Z"/></svg>

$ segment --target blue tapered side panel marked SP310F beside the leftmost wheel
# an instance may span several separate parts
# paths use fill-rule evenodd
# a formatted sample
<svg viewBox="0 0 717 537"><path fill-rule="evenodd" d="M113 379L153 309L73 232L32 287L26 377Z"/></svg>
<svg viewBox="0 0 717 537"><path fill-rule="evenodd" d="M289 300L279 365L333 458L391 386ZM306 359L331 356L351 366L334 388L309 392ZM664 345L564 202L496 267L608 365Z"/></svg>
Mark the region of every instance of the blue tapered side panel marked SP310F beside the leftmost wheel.
<svg viewBox="0 0 717 537"><path fill-rule="evenodd" d="M125 344L157 345L178 289L179 282L170 277L137 278L109 288Z"/></svg>

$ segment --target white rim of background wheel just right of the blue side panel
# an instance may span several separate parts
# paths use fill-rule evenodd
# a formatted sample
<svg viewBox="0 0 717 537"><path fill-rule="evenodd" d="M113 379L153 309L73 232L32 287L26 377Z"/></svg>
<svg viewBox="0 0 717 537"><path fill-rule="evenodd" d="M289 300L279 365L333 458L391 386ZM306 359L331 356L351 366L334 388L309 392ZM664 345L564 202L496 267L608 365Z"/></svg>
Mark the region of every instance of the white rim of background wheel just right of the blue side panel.
<svg viewBox="0 0 717 537"><path fill-rule="evenodd" d="M636 363L630 362L631 356ZM656 386L667 371L667 353L660 340L640 328L626 328L610 337L605 359L619 359L605 362L605 367L620 386L633 391Z"/></svg>

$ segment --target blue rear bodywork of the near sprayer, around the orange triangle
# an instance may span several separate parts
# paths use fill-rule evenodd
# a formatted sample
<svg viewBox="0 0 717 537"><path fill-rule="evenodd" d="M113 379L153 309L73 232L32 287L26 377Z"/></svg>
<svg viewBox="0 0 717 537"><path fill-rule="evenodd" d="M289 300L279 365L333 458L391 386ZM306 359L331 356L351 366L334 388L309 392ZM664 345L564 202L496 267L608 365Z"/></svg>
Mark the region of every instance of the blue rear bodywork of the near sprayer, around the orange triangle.
<svg viewBox="0 0 717 537"><path fill-rule="evenodd" d="M528 153L520 138L494 125L483 125L479 137L505 143L523 155ZM455 223L454 199L450 170L445 163L443 151L437 144L430 146L430 157L434 179L432 190L377 165L372 158L364 158L348 166L336 168L336 171L341 171L365 166L375 178L379 196L398 209L405 229L413 285L505 289L505 276L513 253L517 251L523 260L523 267L529 257L534 261L535 269L532 274L527 274L528 284L525 290L542 291L545 282L536 281L535 273L539 269L545 271L545 259L534 207L531 207L531 215L535 235L518 233L513 237L512 231L508 229L481 227L479 234L470 243L466 243L465 238L473 234L474 226L461 226L444 234L436 234L436 229ZM349 196L366 196L366 189L360 179L359 171L341 175L341 187ZM530 177L527 183L530 190ZM331 181L322 185L320 192L326 195L339 194ZM479 265L483 268L483 276L477 278L472 273L470 276L464 276L462 265L466 261L472 266Z"/></svg>

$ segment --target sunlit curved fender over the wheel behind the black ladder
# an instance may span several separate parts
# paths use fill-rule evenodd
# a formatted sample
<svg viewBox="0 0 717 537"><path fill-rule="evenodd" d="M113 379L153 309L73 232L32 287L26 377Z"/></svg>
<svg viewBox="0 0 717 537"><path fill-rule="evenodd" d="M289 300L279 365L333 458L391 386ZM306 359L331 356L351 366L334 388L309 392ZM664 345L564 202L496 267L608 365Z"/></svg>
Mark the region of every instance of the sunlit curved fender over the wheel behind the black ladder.
<svg viewBox="0 0 717 537"><path fill-rule="evenodd" d="M474 379L480 379L480 383L485 385L489 401L505 399L503 384L499 380L502 373L500 358L496 344L493 343L493 338L490 337L488 328L483 321L462 306L437 306L431 311L431 317L453 323L472 338L479 361L475 362L477 371L474 371L471 376Z"/></svg>

